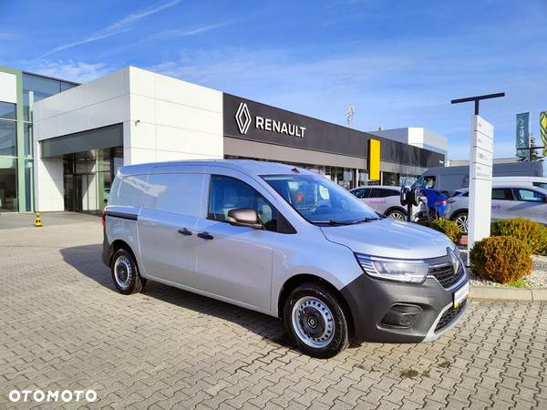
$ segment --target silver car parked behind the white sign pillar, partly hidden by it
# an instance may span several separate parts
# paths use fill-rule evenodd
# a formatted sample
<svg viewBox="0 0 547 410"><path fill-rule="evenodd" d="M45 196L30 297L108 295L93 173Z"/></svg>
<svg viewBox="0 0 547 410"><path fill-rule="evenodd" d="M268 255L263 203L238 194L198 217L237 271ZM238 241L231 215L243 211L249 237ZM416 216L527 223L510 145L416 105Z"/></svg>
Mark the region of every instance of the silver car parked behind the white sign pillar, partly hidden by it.
<svg viewBox="0 0 547 410"><path fill-rule="evenodd" d="M445 218L454 220L463 234L469 229L469 190L448 200ZM547 190L519 183L492 183L491 220L527 218L547 225Z"/></svg>

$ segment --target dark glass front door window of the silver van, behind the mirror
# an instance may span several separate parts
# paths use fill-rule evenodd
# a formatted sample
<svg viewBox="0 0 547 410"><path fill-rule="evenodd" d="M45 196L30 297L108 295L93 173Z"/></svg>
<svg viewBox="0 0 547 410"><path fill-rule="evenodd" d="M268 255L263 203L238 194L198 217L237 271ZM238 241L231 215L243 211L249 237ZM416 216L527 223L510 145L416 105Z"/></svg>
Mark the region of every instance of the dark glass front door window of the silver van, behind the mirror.
<svg viewBox="0 0 547 410"><path fill-rule="evenodd" d="M266 231L277 231L277 210L257 190L239 179L212 175L207 218L228 220L228 211L239 208L256 210Z"/></svg>

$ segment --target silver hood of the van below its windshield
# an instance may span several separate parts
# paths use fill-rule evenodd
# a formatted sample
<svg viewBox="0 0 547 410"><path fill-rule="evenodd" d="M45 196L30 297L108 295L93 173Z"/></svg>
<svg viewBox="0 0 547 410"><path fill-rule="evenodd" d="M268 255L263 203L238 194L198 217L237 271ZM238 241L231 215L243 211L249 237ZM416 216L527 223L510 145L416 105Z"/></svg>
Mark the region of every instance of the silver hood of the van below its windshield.
<svg viewBox="0 0 547 410"><path fill-rule="evenodd" d="M428 259L445 256L455 245L449 237L415 223L393 218L356 225L321 227L328 241L354 252L400 259Z"/></svg>

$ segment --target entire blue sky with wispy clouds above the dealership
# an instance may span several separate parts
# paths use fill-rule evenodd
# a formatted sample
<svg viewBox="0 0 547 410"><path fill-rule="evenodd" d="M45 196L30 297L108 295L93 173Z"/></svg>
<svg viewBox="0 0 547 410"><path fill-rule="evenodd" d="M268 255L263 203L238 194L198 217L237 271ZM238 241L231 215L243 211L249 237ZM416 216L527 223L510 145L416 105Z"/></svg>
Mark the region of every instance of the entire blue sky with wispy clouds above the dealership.
<svg viewBox="0 0 547 410"><path fill-rule="evenodd" d="M514 156L516 114L541 142L547 0L0 0L0 65L87 82L127 66L353 128L423 127L469 159L473 103Z"/></svg>

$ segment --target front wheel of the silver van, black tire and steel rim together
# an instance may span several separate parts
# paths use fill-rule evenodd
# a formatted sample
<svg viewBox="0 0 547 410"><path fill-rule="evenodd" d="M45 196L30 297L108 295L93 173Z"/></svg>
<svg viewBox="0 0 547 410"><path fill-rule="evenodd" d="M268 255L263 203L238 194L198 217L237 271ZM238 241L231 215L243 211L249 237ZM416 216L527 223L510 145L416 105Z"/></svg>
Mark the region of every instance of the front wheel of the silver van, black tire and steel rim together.
<svg viewBox="0 0 547 410"><path fill-rule="evenodd" d="M319 283L298 286L284 303L284 324L294 343L320 359L349 345L348 318L343 302Z"/></svg>

